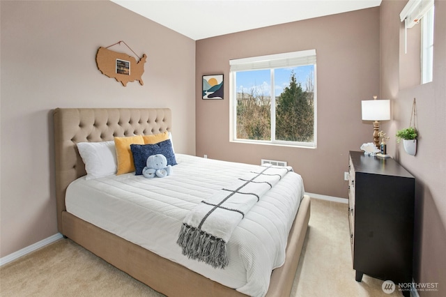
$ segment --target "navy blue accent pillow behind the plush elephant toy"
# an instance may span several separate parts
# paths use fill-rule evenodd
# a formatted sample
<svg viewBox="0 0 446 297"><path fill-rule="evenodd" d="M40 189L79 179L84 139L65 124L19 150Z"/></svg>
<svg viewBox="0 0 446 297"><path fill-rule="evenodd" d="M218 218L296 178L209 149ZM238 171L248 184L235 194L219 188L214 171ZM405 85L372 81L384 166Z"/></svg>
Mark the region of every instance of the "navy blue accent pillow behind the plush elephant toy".
<svg viewBox="0 0 446 297"><path fill-rule="evenodd" d="M161 154L167 159L167 165L176 165L174 150L170 139L157 144L130 144L133 155L135 175L142 175L142 169L146 167L147 158L151 155Z"/></svg>

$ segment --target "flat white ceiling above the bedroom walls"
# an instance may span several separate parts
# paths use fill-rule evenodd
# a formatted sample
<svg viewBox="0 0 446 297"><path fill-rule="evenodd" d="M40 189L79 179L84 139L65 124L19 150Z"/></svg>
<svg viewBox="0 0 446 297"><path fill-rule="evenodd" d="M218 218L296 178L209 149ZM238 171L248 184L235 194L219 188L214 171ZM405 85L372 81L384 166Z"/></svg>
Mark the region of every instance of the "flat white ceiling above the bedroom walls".
<svg viewBox="0 0 446 297"><path fill-rule="evenodd" d="M380 6L381 0L111 0L193 40Z"/></svg>

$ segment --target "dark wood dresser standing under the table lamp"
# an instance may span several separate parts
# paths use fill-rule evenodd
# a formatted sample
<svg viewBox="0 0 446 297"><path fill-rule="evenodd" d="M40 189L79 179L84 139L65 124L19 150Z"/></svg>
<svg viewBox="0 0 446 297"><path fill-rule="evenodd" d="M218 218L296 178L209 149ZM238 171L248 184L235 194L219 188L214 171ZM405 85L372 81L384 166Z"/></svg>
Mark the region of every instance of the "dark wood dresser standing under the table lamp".
<svg viewBox="0 0 446 297"><path fill-rule="evenodd" d="M392 158L350 151L348 219L356 280L412 282L415 178ZM409 291L403 291L409 296Z"/></svg>

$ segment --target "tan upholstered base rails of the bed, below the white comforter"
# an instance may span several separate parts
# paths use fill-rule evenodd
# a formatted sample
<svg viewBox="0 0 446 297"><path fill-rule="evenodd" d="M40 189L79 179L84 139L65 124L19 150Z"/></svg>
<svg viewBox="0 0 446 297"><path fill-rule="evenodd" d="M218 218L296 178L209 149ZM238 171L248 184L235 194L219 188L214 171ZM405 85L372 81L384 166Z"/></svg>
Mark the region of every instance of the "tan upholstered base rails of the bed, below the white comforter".
<svg viewBox="0 0 446 297"><path fill-rule="evenodd" d="M272 271L268 297L289 296L307 233L310 198L305 195L290 231L286 262ZM166 296L246 296L164 259L64 211L63 235Z"/></svg>

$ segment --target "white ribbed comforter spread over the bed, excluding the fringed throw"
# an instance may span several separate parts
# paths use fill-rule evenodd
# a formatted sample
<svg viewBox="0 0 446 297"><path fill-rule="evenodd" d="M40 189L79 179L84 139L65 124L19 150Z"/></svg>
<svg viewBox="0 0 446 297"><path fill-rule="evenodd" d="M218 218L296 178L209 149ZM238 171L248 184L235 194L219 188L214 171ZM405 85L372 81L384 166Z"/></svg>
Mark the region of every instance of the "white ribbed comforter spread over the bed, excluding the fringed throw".
<svg viewBox="0 0 446 297"><path fill-rule="evenodd" d="M263 195L233 231L229 265L215 269L181 254L176 240L183 219L256 165L182 154L176 160L173 174L165 178L133 173L78 178L66 192L67 211L243 294L264 296L272 269L284 264L289 230L304 195L302 178L290 172Z"/></svg>

